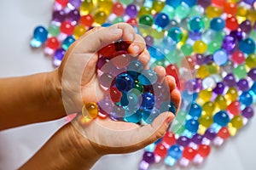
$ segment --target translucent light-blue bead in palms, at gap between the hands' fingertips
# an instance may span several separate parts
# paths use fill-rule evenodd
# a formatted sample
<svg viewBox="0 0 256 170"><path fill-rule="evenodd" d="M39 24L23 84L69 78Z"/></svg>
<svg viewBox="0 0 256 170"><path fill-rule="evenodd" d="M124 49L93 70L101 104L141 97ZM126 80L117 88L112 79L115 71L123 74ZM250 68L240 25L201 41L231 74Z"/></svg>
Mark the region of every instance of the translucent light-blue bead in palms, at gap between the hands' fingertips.
<svg viewBox="0 0 256 170"><path fill-rule="evenodd" d="M157 75L152 70L143 70L142 74L138 77L138 81L143 85L151 85L157 81Z"/></svg>

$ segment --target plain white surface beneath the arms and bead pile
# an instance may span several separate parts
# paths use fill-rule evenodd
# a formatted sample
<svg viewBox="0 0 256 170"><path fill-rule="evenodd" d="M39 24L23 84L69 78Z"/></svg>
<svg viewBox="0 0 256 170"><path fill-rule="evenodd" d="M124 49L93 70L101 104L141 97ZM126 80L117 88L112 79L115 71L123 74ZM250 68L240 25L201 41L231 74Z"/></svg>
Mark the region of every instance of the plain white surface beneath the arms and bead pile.
<svg viewBox="0 0 256 170"><path fill-rule="evenodd" d="M0 5L0 77L14 77L53 70L51 59L41 49L32 50L29 40L35 26L48 26L54 0L8 0ZM0 89L1 93L1 89ZM1 104L0 104L1 105ZM15 105L15 104L14 104ZM0 132L0 170L16 169L31 157L65 119L18 127ZM188 169L256 169L255 117L235 138L213 149L201 167ZM143 151L104 156L94 170L137 169ZM171 169L156 165L151 169ZM172 169L178 169L172 168Z"/></svg>

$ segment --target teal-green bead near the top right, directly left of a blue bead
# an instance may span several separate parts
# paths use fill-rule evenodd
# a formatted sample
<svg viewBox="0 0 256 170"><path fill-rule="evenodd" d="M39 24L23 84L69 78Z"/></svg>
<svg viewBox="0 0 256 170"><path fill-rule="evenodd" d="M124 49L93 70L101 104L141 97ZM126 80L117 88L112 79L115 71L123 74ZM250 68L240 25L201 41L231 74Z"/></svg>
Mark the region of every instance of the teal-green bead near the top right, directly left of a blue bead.
<svg viewBox="0 0 256 170"><path fill-rule="evenodd" d="M204 31L205 24L201 17L195 16L189 20L189 31L201 33Z"/></svg>

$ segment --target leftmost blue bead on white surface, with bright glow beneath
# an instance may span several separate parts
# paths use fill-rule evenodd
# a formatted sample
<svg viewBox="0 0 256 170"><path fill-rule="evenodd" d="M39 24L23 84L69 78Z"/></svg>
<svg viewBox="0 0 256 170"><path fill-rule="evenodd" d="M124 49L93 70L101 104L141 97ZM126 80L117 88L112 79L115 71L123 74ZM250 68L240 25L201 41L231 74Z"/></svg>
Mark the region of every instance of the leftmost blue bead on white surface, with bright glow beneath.
<svg viewBox="0 0 256 170"><path fill-rule="evenodd" d="M33 32L33 38L30 42L32 48L39 48L47 40L48 31L44 26L37 26Z"/></svg>

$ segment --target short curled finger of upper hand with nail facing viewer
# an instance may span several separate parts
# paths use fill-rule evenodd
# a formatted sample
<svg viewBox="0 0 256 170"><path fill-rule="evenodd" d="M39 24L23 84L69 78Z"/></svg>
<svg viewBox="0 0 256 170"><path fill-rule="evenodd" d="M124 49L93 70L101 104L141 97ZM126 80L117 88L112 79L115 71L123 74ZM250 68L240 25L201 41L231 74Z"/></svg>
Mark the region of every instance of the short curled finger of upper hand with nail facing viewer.
<svg viewBox="0 0 256 170"><path fill-rule="evenodd" d="M137 56L138 54L141 54L145 48L146 48L146 42L144 38L136 34L134 41L131 43L131 45L128 48L128 52L129 54L131 54L131 56Z"/></svg>

